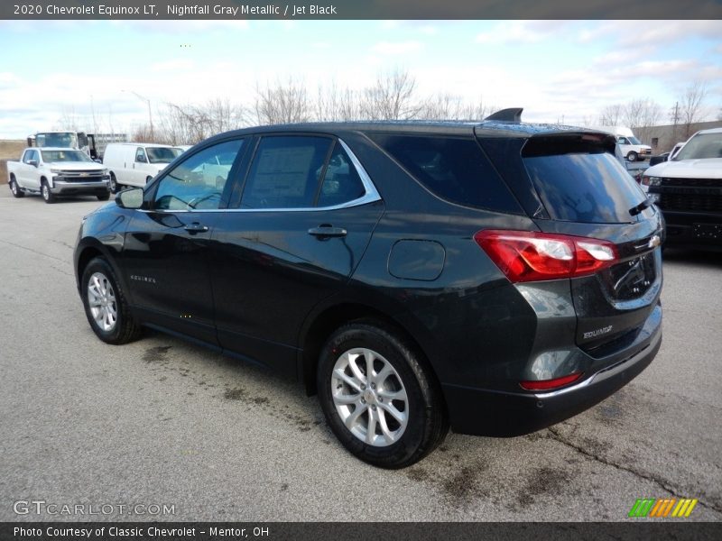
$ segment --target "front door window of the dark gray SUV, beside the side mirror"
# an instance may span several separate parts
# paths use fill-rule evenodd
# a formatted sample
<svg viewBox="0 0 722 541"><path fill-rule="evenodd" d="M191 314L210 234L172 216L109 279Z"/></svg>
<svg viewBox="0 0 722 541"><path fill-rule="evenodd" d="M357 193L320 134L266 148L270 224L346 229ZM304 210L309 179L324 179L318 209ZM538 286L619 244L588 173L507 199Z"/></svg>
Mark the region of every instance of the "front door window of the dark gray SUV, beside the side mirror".
<svg viewBox="0 0 722 541"><path fill-rule="evenodd" d="M218 208L229 181L242 139L220 142L190 156L161 180L155 194L156 210Z"/></svg>

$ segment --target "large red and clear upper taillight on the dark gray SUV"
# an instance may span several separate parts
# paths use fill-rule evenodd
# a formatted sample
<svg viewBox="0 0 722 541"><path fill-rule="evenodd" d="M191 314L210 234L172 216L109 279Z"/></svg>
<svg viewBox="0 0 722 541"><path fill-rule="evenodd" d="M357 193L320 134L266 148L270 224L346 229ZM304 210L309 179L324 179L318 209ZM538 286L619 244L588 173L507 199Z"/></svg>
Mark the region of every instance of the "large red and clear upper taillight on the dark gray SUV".
<svg viewBox="0 0 722 541"><path fill-rule="evenodd" d="M617 260L613 243L533 231L479 231L474 240L512 282L594 274Z"/></svg>

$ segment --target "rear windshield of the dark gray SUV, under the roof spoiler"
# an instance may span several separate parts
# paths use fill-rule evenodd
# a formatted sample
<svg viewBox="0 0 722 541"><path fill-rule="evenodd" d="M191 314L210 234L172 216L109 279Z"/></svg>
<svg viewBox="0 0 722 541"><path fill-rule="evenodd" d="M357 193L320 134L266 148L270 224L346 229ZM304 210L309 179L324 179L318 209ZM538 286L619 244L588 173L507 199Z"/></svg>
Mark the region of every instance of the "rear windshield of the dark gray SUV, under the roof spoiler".
<svg viewBox="0 0 722 541"><path fill-rule="evenodd" d="M630 209L645 195L601 145L539 138L524 146L523 163L550 217L566 222L634 222Z"/></svg>

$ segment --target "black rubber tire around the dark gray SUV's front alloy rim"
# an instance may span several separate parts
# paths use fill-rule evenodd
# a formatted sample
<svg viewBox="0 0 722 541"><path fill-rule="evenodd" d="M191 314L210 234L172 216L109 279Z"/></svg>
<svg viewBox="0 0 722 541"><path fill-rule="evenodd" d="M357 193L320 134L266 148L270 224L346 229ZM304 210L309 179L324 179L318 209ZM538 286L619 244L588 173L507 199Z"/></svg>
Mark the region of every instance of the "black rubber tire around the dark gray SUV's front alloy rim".
<svg viewBox="0 0 722 541"><path fill-rule="evenodd" d="M104 329L98 324L90 307L88 284L93 277L98 276L102 277L102 279L99 279L100 282L103 282L105 286L110 286L109 291L114 298L114 301L108 304L115 309L116 321L115 325L108 329ZM128 307L125 299L125 292L118 283L116 273L105 258L96 257L88 262L88 266L83 270L83 275L80 279L80 297L83 299L83 307L85 308L85 315L88 317L90 327L103 342L107 344L127 344L140 338L142 333L141 326L135 323L130 307ZM108 298L109 297L110 296L108 296Z"/></svg>

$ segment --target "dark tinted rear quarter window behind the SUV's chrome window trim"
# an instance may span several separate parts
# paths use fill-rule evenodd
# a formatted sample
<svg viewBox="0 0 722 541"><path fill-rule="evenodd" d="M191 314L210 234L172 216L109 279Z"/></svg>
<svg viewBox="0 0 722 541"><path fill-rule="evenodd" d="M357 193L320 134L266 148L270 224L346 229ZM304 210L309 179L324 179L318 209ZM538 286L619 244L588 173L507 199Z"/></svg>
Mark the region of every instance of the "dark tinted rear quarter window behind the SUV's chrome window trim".
<svg viewBox="0 0 722 541"><path fill-rule="evenodd" d="M370 137L437 196L459 205L522 214L475 140L386 134Z"/></svg>

